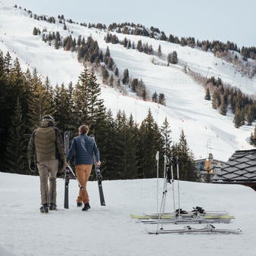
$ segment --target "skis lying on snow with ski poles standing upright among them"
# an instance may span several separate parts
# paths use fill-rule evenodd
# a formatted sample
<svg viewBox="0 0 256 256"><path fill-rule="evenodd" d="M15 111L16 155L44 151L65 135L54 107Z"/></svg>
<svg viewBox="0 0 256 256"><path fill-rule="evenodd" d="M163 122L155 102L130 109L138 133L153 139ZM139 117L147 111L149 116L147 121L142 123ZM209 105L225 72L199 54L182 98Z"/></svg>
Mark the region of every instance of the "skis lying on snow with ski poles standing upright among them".
<svg viewBox="0 0 256 256"><path fill-rule="evenodd" d="M156 161L159 161L158 153ZM170 167L169 167L170 164ZM173 167L176 164L176 178L178 190L178 209L175 208L176 202L174 197L174 178ZM158 167L158 163L157 163ZM164 155L164 187L160 209L158 211L158 195L157 195L157 213L152 214L130 214L134 219L144 224L157 224L155 231L148 231L150 234L158 233L241 233L241 229L217 229L212 223L230 223L235 217L226 211L204 211L204 208L195 207L192 211L184 211L180 208L180 162L179 158L167 158ZM157 172L158 173L158 172ZM158 178L158 175L157 175ZM157 179L158 180L158 179ZM165 203L167 198L167 184L170 183L173 192L173 212L165 212ZM157 183L158 187L158 183ZM164 229L164 224L206 224L202 228L194 228L185 226L183 229ZM159 226L161 225L161 226Z"/></svg>

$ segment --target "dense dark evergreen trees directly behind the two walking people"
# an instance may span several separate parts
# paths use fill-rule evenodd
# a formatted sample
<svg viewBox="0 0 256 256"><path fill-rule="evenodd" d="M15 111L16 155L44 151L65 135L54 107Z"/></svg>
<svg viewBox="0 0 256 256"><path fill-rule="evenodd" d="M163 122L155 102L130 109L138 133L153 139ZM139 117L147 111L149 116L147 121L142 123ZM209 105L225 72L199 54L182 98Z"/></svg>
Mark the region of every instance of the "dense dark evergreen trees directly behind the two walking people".
<svg viewBox="0 0 256 256"><path fill-rule="evenodd" d="M119 111L114 117L99 97L101 89L93 69L85 67L74 85L54 87L48 77L43 81L36 69L23 72L17 58L12 60L9 52L0 52L0 92L1 171L33 174L28 169L27 145L42 117L51 114L61 133L69 130L71 138L82 123L89 125L106 180L155 177L157 151L162 160L164 154L179 159L180 179L197 180L183 131L179 141L172 142L170 123L166 119L158 126L150 109L140 125L132 114L128 117ZM160 161L160 170L163 164Z"/></svg>

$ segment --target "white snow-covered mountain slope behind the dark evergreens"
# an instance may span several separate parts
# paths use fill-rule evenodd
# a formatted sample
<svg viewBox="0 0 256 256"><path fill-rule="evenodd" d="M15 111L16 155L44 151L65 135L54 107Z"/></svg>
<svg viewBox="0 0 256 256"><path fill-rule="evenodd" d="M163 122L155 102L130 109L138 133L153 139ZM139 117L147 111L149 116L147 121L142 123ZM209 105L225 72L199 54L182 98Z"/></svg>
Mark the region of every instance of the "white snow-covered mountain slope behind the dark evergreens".
<svg viewBox="0 0 256 256"><path fill-rule="evenodd" d="M57 17L58 14L56 14ZM27 67L35 68L42 75L50 79L53 86L70 82L76 83L83 66L76 59L76 52L64 52L50 47L42 42L41 36L33 36L33 28L41 31L60 32L61 36L67 36L72 31L72 37L92 36L97 40L99 47L105 52L107 46L110 49L111 57L123 73L128 69L130 77L142 79L147 89L151 92L163 92L166 97L166 107L149 101L142 101L133 95L124 96L120 92L102 84L101 97L105 100L105 106L114 113L118 110L126 111L127 115L133 117L140 123L151 109L155 120L161 125L164 118L170 123L172 139L174 142L179 139L180 131L184 130L189 148L195 154L195 158L208 156L207 146L211 148L214 158L226 161L233 151L248 149L249 137L254 126L242 126L236 129L233 126L233 117L226 117L217 113L211 108L210 101L204 101L204 89L195 83L191 77L183 72L179 65L156 65L152 58L159 64L165 63L156 56L145 55L133 49L123 48L122 45L107 44L104 40L105 31L88 29L77 24L67 23L68 30L63 30L63 24L51 24L35 20L29 17L25 11L11 8L8 4L0 5L0 49L6 53L9 51L13 58L19 58L23 70ZM250 80L234 67L215 58L210 52L202 52L199 49L181 47L169 42L163 42L148 37L129 36L117 34L122 40L129 38L131 42L142 40L152 45L155 52L158 45L161 45L161 52L166 58L170 52L176 51L180 63L186 64L191 70L201 73L204 76L220 77L224 82L237 86L242 92L250 95L256 94L256 80Z"/></svg>

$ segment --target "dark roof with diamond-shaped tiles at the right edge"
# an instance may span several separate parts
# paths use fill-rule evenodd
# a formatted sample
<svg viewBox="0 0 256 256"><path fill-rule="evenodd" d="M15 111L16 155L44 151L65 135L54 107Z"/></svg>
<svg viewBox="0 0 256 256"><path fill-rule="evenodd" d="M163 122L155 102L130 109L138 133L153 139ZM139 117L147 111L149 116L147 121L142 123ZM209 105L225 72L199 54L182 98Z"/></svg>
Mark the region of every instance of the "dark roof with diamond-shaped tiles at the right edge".
<svg viewBox="0 0 256 256"><path fill-rule="evenodd" d="M212 182L256 183L256 149L236 151L223 167L216 170Z"/></svg>

